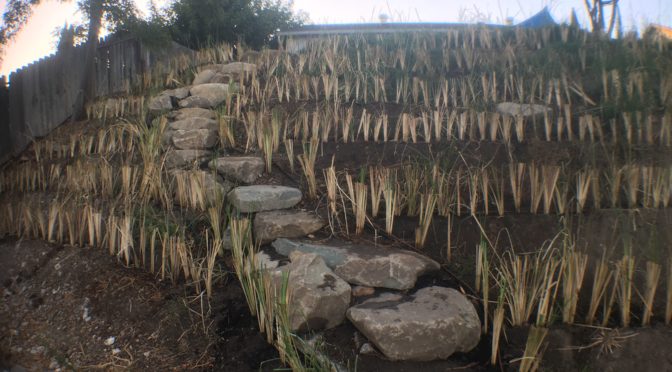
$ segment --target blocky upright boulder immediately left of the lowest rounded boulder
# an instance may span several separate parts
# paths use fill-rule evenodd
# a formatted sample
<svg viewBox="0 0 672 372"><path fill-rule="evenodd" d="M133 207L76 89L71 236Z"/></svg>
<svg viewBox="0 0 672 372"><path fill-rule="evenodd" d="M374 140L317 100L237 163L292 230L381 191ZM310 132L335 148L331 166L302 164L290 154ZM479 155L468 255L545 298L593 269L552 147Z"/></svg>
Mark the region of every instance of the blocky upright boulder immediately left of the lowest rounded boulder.
<svg viewBox="0 0 672 372"><path fill-rule="evenodd" d="M293 331L304 332L336 327L345 320L350 306L350 286L314 254L292 256L289 265L273 271L276 288L283 272L289 272L292 293L289 322Z"/></svg>

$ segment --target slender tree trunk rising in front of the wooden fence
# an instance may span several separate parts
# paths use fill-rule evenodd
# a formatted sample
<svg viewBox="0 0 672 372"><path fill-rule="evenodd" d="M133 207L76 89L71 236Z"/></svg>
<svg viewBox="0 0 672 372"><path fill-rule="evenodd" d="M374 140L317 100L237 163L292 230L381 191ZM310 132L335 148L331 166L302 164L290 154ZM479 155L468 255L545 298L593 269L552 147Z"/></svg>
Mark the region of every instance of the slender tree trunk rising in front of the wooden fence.
<svg viewBox="0 0 672 372"><path fill-rule="evenodd" d="M90 0L89 2L89 31L86 36L86 61L84 73L80 80L80 89L75 101L73 120L86 118L85 105L96 96L96 77L94 75L96 50L98 49L98 36L103 18L103 0Z"/></svg>

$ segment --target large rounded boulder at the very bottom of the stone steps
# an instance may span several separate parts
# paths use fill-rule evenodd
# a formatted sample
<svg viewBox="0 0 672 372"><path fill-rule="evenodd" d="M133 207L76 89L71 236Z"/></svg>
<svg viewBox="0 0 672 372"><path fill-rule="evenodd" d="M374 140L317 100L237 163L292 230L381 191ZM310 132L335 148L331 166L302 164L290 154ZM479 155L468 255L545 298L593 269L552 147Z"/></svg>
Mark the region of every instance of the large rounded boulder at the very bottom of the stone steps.
<svg viewBox="0 0 672 372"><path fill-rule="evenodd" d="M474 305L452 288L427 287L409 299L371 299L347 311L352 324L391 360L430 361L468 352L481 336Z"/></svg>

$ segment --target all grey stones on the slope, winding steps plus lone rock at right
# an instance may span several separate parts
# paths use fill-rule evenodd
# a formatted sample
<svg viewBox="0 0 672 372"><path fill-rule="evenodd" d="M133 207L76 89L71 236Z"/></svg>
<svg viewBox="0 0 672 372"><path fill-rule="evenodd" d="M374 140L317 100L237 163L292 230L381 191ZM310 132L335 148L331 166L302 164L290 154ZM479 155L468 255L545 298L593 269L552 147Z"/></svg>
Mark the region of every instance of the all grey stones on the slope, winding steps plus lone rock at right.
<svg viewBox="0 0 672 372"><path fill-rule="evenodd" d="M161 92L150 100L149 109L170 119L163 140L170 146L165 164L171 174L202 177L209 203L217 195L226 195L238 212L256 213L252 217L255 239L262 244L273 241L275 250L290 258L289 264L278 267L280 261L266 253L256 256L257 265L269 270L276 286L281 285L283 273L289 272L292 331L333 328L347 316L392 360L445 359L454 352L473 349L479 342L480 321L474 306L461 293L443 287L423 288L410 296L390 292L413 289L420 275L440 269L437 262L401 249L289 240L309 235L325 224L314 213L290 210L301 201L299 189L278 185L233 188L231 182L256 182L265 163L253 156L212 159L211 149L219 138L217 114L212 109L236 89L242 75L255 71L256 65L244 62L203 66L191 86ZM541 105L498 105L498 111L510 115L530 116L546 109ZM210 170L203 169L206 161ZM195 165L199 169L182 170ZM230 249L230 229L223 235L224 249ZM388 292L377 294L380 290L376 288ZM367 353L375 353L371 344L366 344Z"/></svg>

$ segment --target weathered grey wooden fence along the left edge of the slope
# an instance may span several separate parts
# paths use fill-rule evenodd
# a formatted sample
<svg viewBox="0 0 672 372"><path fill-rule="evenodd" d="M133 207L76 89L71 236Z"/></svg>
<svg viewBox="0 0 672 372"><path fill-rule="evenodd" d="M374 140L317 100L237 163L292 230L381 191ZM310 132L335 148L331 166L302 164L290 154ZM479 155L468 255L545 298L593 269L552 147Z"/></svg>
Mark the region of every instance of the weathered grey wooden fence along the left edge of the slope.
<svg viewBox="0 0 672 372"><path fill-rule="evenodd" d="M153 51L135 38L110 36L99 43L95 58L96 97L127 94L158 61L190 52L173 43ZM0 163L23 151L68 120L82 94L86 45L61 51L10 75L6 100L0 90ZM2 113L7 112L7 117Z"/></svg>

